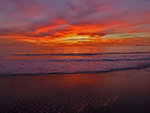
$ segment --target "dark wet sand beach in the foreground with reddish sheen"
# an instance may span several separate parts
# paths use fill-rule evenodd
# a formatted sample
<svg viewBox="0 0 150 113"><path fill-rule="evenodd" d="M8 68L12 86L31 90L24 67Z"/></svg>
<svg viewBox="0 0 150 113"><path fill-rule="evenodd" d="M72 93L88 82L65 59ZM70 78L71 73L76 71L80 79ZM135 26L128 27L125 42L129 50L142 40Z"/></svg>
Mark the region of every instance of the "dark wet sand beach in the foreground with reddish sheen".
<svg viewBox="0 0 150 113"><path fill-rule="evenodd" d="M0 113L150 113L150 68L0 77Z"/></svg>

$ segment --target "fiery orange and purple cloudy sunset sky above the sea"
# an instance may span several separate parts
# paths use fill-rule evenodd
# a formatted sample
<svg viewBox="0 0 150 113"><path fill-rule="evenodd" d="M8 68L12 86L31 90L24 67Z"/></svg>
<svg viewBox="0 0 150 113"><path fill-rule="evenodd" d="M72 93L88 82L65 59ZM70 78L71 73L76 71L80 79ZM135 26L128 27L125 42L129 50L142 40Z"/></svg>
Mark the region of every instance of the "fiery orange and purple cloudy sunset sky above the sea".
<svg viewBox="0 0 150 113"><path fill-rule="evenodd" d="M0 0L0 44L150 45L150 0Z"/></svg>

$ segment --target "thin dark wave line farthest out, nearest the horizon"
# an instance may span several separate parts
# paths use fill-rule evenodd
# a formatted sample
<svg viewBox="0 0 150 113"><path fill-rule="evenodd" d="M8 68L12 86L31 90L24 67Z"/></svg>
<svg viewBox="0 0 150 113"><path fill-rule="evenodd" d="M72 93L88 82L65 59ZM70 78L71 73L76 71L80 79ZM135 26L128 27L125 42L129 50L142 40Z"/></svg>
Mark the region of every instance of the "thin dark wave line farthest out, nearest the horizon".
<svg viewBox="0 0 150 113"><path fill-rule="evenodd" d="M110 52L110 53L55 53L55 54L12 54L14 56L93 56L108 54L150 54L149 52Z"/></svg>

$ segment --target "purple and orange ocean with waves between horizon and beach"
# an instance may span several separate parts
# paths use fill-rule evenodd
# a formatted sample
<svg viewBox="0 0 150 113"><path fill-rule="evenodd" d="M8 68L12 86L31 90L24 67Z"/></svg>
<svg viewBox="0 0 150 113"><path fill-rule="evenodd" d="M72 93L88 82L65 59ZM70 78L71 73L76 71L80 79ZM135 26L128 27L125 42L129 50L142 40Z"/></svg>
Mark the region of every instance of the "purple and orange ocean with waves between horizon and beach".
<svg viewBox="0 0 150 113"><path fill-rule="evenodd" d="M0 48L0 76L104 73L146 67L150 67L150 46Z"/></svg>

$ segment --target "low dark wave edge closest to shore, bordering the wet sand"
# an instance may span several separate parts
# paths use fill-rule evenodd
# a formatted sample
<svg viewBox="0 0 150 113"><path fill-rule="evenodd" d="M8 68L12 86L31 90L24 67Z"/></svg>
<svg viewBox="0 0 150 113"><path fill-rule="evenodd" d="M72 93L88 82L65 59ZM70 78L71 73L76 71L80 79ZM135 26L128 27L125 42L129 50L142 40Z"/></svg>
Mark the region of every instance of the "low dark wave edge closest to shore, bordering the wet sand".
<svg viewBox="0 0 150 113"><path fill-rule="evenodd" d="M100 70L100 71L76 71L76 72L50 72L50 73L16 73L16 74L0 74L0 77L7 76L35 76L35 75L60 75L60 74L90 74L90 73L108 73L115 71L127 71L127 70L139 70L144 68L150 68L150 64L142 64L133 67L125 67L125 68L116 68L116 69L108 69L108 70Z"/></svg>

